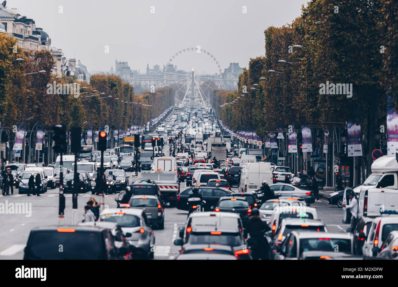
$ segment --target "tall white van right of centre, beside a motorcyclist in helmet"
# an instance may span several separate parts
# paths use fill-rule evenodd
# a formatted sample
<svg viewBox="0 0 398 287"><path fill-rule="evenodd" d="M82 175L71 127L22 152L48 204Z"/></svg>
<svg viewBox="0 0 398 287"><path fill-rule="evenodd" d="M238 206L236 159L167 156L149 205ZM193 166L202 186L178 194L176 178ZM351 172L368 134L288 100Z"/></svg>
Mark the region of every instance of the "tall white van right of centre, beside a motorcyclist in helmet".
<svg viewBox="0 0 398 287"><path fill-rule="evenodd" d="M272 182L270 163L247 163L243 165L239 192L252 192L261 187L264 180Z"/></svg>

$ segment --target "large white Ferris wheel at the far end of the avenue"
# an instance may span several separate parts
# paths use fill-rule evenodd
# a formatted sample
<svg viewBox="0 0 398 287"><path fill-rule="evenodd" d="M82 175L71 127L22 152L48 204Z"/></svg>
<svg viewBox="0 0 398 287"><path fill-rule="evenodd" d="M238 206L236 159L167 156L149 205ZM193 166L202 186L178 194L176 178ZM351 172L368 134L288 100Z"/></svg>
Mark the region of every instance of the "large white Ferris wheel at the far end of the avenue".
<svg viewBox="0 0 398 287"><path fill-rule="evenodd" d="M190 60L192 59L192 62L199 60L200 63L196 65L192 64L192 69L178 70L177 65L174 66L174 64L178 64L179 59L186 58L187 56L189 56ZM217 72L203 74L199 70L201 64L209 66L210 62L214 63ZM184 64L189 63L184 62ZM164 85L175 88L176 99L181 103L189 99L198 99L199 101L207 102L209 101L209 91L214 88L220 88L222 85L222 71L219 61L213 54L201 49L200 46L181 49L171 56L164 68L163 77ZM178 96L183 99L178 99Z"/></svg>

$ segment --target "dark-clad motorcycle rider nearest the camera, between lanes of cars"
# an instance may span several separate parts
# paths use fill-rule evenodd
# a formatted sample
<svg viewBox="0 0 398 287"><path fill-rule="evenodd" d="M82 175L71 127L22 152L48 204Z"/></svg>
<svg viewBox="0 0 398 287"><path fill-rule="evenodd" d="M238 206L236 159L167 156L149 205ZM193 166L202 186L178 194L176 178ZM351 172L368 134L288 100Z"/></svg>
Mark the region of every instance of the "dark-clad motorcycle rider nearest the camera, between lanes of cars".
<svg viewBox="0 0 398 287"><path fill-rule="evenodd" d="M261 220L260 213L257 208L253 208L250 213L246 229L250 235L248 242L252 242L250 245L252 246L253 259L269 259L269 244L263 234L270 231L271 228Z"/></svg>

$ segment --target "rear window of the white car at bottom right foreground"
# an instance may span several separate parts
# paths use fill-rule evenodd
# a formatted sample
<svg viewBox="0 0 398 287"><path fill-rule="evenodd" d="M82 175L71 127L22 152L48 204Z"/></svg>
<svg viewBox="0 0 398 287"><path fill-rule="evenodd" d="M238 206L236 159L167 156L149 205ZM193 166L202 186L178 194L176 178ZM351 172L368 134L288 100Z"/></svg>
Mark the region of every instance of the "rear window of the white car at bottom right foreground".
<svg viewBox="0 0 398 287"><path fill-rule="evenodd" d="M351 240L340 238L303 238L300 239L300 254L304 251L333 251L339 246L339 252L351 252Z"/></svg>

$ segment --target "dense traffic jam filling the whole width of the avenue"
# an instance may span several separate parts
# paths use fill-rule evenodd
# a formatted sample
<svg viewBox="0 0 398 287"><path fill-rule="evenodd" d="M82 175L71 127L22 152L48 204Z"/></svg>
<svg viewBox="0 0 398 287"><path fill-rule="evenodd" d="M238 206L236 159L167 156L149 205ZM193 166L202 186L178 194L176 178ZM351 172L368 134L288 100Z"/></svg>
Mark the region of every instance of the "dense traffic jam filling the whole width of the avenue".
<svg viewBox="0 0 398 287"><path fill-rule="evenodd" d="M211 107L175 107L152 132L123 141L109 148L100 139L98 151L81 145L48 166L7 165L2 200L41 196L34 205L59 207L59 218L34 227L21 217L29 229L18 245L23 250L12 253L12 245L0 250L0 258L397 258L398 213L386 176L396 176L395 158L381 157L361 186L326 198L313 176L275 165L263 148L250 149L223 130ZM84 215L67 224L64 217L77 209L64 199L75 193Z"/></svg>

